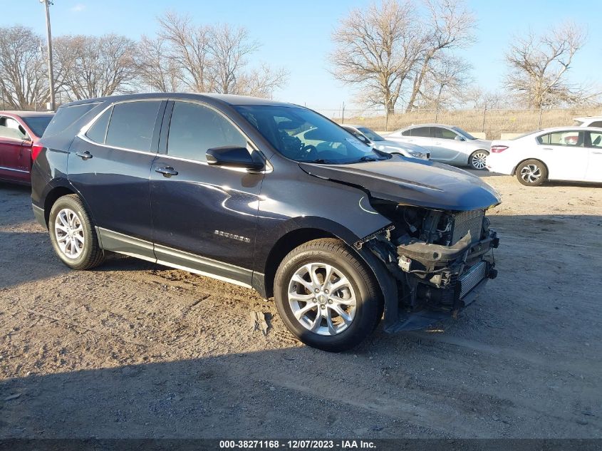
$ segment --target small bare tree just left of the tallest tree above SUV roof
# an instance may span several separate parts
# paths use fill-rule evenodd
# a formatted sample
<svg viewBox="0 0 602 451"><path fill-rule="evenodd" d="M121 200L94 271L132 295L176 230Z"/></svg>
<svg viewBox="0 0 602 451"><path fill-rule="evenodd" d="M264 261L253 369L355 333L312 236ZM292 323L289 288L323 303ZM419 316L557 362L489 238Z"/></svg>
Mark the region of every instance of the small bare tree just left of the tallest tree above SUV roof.
<svg viewBox="0 0 602 451"><path fill-rule="evenodd" d="M161 93L175 92L182 86L182 70L169 57L164 38L142 36L135 54L137 81L142 87Z"/></svg>

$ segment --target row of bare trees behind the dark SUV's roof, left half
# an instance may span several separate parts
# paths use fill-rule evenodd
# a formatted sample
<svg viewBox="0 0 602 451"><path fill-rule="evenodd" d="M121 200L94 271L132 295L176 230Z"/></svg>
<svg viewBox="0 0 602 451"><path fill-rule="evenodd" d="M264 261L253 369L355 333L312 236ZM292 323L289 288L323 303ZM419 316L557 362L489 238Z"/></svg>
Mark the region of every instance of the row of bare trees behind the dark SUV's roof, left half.
<svg viewBox="0 0 602 451"><path fill-rule="evenodd" d="M188 90L271 97L286 83L284 68L249 65L260 44L246 28L196 25L166 13L156 36L118 34L53 38L56 95L61 103L135 91ZM45 40L26 26L0 28L0 101L6 108L48 102Z"/></svg>

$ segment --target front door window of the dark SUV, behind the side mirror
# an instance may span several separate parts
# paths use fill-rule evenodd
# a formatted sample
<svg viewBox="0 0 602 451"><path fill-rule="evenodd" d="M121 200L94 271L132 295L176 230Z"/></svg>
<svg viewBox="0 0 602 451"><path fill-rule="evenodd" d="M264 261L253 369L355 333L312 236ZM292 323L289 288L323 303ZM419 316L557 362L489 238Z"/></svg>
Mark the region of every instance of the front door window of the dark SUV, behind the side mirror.
<svg viewBox="0 0 602 451"><path fill-rule="evenodd" d="M246 138L211 108L189 102L174 104L167 155L206 161L208 149L224 145L246 147Z"/></svg>

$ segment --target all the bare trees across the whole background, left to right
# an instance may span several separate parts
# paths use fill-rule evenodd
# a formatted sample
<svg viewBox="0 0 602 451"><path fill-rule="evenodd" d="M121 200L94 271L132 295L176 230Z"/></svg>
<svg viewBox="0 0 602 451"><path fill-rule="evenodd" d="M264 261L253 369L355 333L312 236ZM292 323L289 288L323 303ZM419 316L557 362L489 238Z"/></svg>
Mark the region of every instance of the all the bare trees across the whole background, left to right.
<svg viewBox="0 0 602 451"><path fill-rule="evenodd" d="M137 41L118 34L53 38L59 103L140 90L270 98L286 84L285 68L249 64L261 44L246 28L197 25L172 12L157 21L155 36ZM599 91L566 76L586 43L582 26L559 23L541 35L513 36L503 55L502 89L488 90L475 83L461 55L475 43L477 25L464 0L375 0L338 22L330 71L356 88L353 103L387 113L600 105ZM48 101L46 46L32 28L0 28L0 96L8 108Z"/></svg>

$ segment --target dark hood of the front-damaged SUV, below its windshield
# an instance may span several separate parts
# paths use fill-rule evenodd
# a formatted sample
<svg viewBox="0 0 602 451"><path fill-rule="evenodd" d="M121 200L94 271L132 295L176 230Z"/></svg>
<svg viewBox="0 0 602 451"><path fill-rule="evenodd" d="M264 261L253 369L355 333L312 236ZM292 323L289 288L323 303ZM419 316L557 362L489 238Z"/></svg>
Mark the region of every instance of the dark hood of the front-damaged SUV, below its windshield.
<svg viewBox="0 0 602 451"><path fill-rule="evenodd" d="M300 162L308 174L365 188L372 197L432 209L468 211L499 204L498 193L479 177L442 163L395 155L349 165Z"/></svg>

